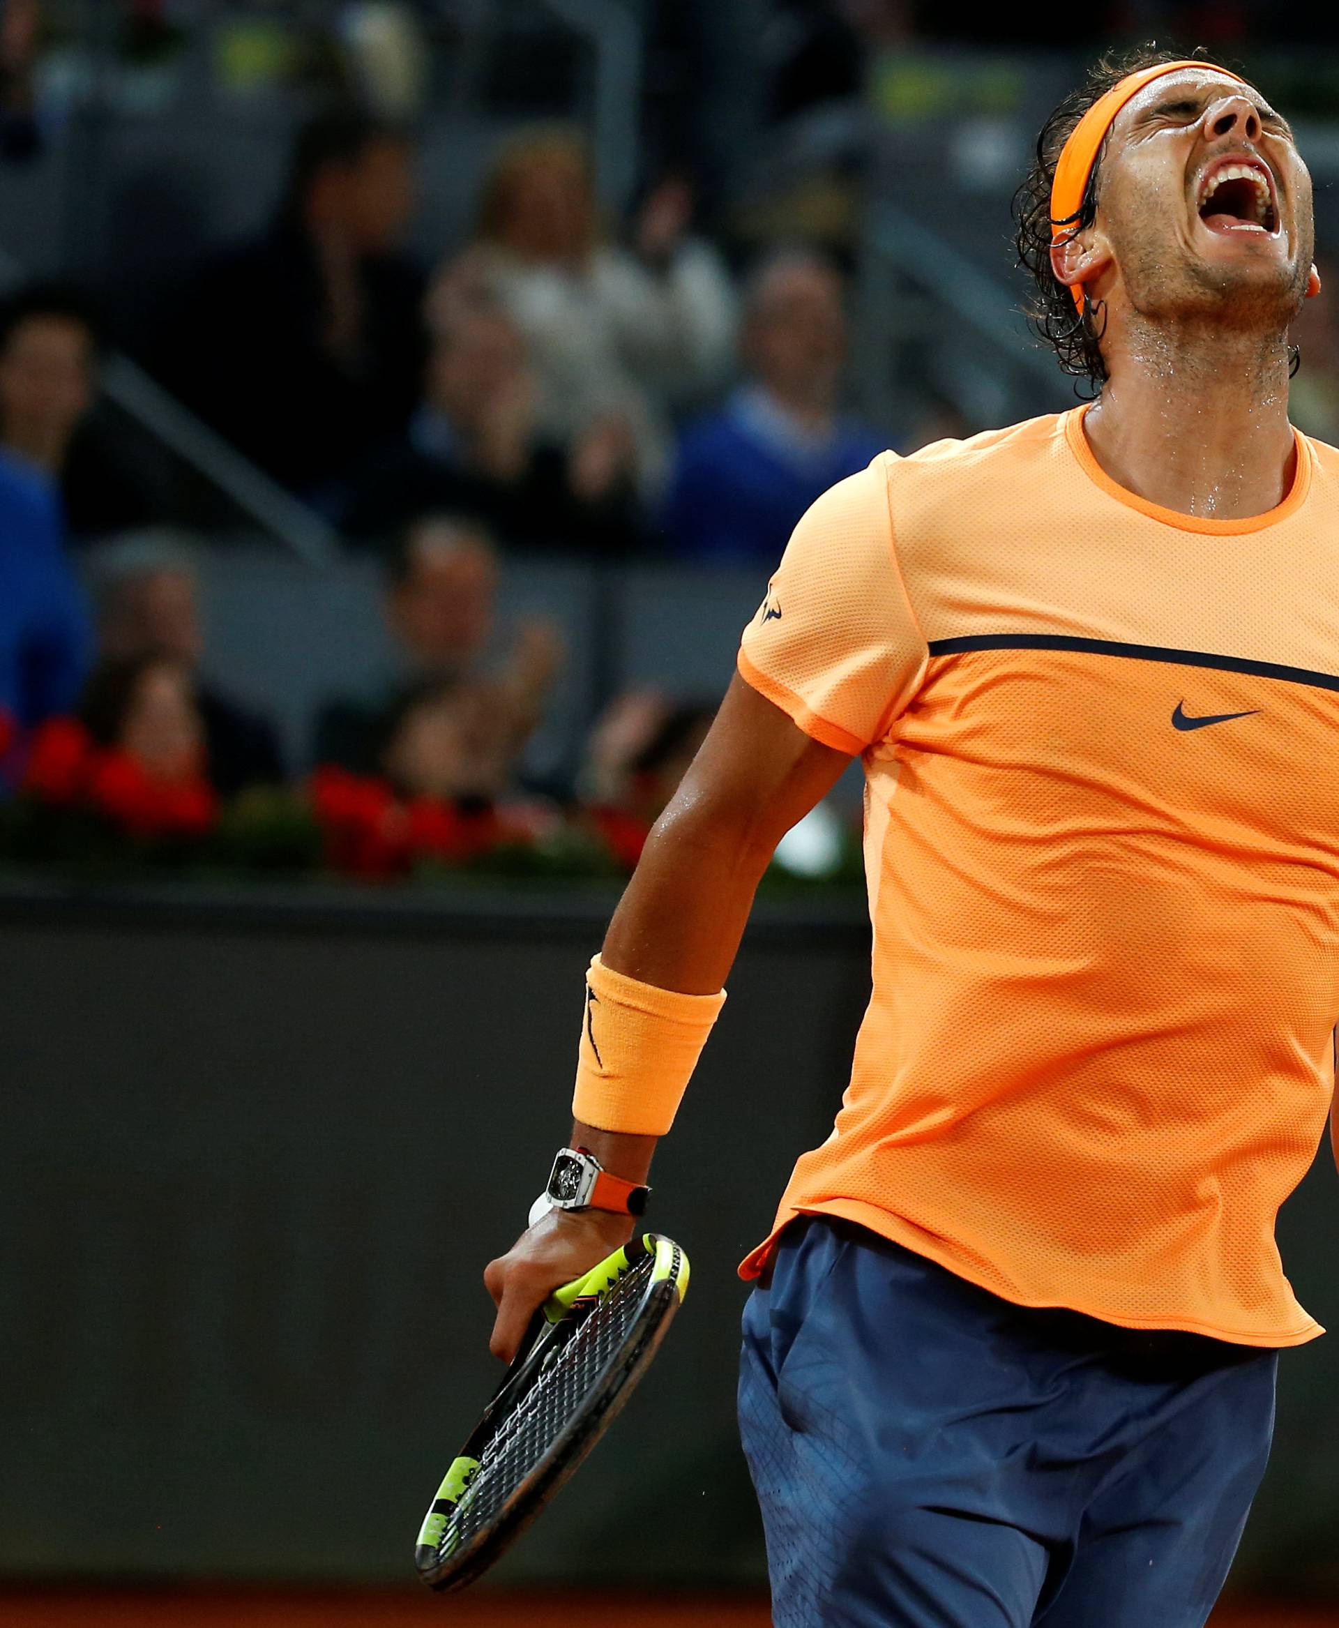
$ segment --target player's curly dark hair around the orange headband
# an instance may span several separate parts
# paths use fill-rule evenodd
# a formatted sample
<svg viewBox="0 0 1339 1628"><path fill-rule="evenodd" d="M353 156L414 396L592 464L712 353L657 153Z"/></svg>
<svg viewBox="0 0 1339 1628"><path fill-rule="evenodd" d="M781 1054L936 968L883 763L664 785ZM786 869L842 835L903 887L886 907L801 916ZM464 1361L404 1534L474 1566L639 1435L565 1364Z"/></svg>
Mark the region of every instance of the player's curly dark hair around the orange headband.
<svg viewBox="0 0 1339 1628"><path fill-rule="evenodd" d="M1075 125L1092 104L1105 96L1113 85L1118 85L1127 73L1150 68L1158 62L1178 62L1204 57L1204 47L1196 50L1158 50L1154 46L1141 46L1127 52L1108 52L1088 73L1087 81L1056 107L1041 133L1036 138L1036 158L1027 179L1014 194L1014 225L1018 264L1032 272L1036 293L1028 304L1028 317L1033 327L1059 357L1061 368L1085 379L1092 386L1092 394L1101 392L1106 383L1106 363L1101 360L1101 332L1105 316L1098 314L1084 295L1084 311L1074 304L1069 288L1056 282L1051 270L1051 182L1056 176L1061 150L1072 135ZM1207 60L1207 59L1206 59ZM1101 160L1106 143L1101 143L1093 173L1079 213L1062 225L1082 231L1097 217L1097 192L1101 174ZM1079 386L1075 386L1079 389Z"/></svg>

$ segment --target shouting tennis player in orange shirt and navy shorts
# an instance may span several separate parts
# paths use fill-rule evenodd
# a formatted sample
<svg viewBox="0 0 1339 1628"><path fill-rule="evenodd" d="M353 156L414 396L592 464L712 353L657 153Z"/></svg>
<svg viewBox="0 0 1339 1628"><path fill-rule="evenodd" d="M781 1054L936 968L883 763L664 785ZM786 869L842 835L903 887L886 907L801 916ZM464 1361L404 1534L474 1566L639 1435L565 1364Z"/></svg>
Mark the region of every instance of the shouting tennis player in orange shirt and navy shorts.
<svg viewBox="0 0 1339 1628"><path fill-rule="evenodd" d="M773 847L862 757L874 995L742 1267L779 1628L1199 1628L1321 1333L1274 1242L1339 1014L1311 184L1254 86L1145 55L1018 215L1097 399L800 521L591 965L556 1208L486 1271L508 1356L626 1237Z"/></svg>

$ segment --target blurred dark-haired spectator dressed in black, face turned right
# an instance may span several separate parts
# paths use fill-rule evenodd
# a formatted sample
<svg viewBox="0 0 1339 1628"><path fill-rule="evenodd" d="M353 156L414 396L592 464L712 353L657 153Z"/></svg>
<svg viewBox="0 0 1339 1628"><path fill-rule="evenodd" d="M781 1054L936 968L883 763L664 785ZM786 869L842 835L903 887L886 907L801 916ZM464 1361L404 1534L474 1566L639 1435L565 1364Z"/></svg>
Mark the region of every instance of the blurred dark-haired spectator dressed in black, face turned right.
<svg viewBox="0 0 1339 1628"><path fill-rule="evenodd" d="M312 119L272 230L207 267L164 335L177 394L307 498L400 433L418 399L423 285L397 252L412 160L408 137L366 114Z"/></svg>

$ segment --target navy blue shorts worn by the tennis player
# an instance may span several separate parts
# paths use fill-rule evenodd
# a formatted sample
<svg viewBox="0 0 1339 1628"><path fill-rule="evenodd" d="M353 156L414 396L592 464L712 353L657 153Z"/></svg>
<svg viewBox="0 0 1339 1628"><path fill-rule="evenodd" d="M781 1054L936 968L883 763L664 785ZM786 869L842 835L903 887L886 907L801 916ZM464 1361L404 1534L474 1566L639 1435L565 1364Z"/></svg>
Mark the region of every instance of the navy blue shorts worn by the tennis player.
<svg viewBox="0 0 1339 1628"><path fill-rule="evenodd" d="M1002 1301L831 1218L744 1312L776 1628L1202 1628L1274 1351Z"/></svg>

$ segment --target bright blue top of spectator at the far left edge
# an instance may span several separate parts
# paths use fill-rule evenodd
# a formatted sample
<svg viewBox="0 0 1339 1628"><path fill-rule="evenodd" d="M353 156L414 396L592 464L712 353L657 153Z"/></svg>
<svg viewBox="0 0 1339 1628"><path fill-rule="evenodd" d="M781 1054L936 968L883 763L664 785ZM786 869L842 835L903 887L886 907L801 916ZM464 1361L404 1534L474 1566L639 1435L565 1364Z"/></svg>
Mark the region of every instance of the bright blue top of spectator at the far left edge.
<svg viewBox="0 0 1339 1628"><path fill-rule="evenodd" d="M91 653L55 482L0 449L0 708L21 728L73 711Z"/></svg>

